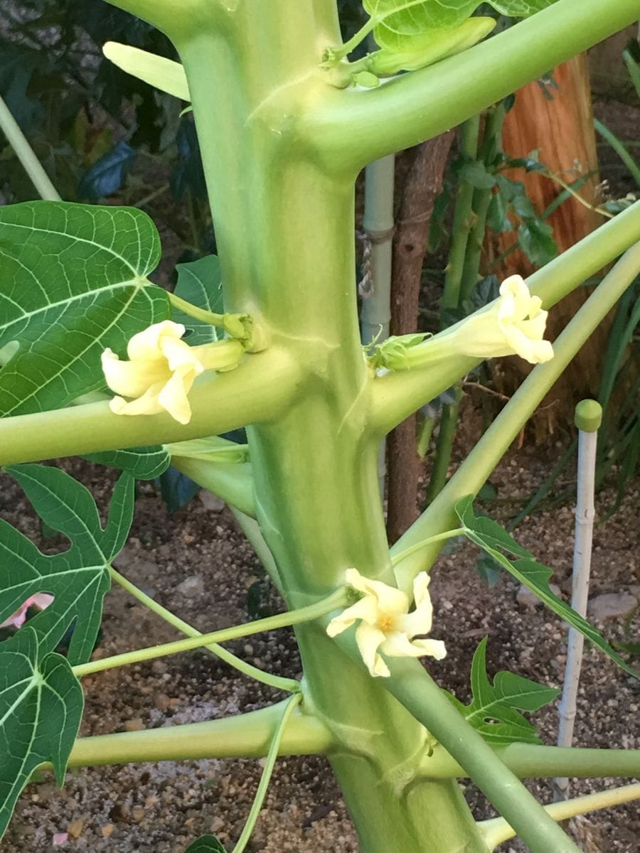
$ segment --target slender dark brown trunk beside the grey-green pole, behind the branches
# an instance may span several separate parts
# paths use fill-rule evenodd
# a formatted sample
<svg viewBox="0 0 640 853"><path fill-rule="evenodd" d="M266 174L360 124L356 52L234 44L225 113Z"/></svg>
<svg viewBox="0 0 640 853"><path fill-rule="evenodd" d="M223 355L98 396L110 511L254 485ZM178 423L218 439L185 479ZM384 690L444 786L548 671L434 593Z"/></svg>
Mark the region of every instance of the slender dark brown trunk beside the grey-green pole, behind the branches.
<svg viewBox="0 0 640 853"><path fill-rule="evenodd" d="M422 263L433 204L442 189L453 132L423 142L413 152L404 180L393 236L391 334L415 332ZM421 460L416 452L416 415L387 439L387 537L393 543L416 520Z"/></svg>

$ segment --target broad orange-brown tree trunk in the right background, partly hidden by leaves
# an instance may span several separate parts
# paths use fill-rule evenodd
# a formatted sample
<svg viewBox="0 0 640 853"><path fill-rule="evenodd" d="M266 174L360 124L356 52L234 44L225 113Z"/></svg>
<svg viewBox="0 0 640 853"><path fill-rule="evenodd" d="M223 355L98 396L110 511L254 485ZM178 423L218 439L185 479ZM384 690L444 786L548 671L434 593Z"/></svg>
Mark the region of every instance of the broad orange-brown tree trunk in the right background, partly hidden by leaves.
<svg viewBox="0 0 640 853"><path fill-rule="evenodd" d="M591 172L592 176L578 192L589 205L593 205L599 178L586 56L576 56L557 67L553 78L558 86L558 90L550 90L553 100L544 95L537 82L516 93L515 105L504 122L503 150L511 157L524 157L533 149L539 149L540 161L566 183L573 183L581 175ZM523 170L512 170L507 174L525 183L527 194L538 213L543 212L562 192L555 181L536 172L525 174ZM558 252L564 252L597 228L602 217L589 206L569 198L551 214L548 222L554 229ZM514 241L515 232L494 236L490 241L490 252L498 255ZM516 251L504 259L497 276L502 280L514 273L527 276L532 271L532 264L522 252ZM547 325L550 339L564 328L588 295L587 290L581 287L554 307ZM596 394L599 358L606 334L606 325L602 325L545 398L532 419L536 441L547 438L556 425L571 424L575 403L581 397ZM521 359L513 358L501 363L497 374L500 390L508 394L514 392L530 370L531 367Z"/></svg>

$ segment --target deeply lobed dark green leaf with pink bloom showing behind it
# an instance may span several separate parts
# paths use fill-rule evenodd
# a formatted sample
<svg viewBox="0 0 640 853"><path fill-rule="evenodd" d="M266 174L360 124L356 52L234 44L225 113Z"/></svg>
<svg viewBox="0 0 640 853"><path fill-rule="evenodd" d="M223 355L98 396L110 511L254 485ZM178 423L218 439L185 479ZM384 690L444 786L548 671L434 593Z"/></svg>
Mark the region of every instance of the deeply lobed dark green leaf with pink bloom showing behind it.
<svg viewBox="0 0 640 853"><path fill-rule="evenodd" d="M83 663L90 658L100 627L102 599L110 586L108 566L131 527L134 480L128 474L118 480L102 529L90 492L67 473L32 464L6 470L45 524L63 533L71 547L61 554L42 554L0 519L0 622L32 595L53 595L54 601L28 624L43 653L53 651L73 626L68 657L73 664Z"/></svg>

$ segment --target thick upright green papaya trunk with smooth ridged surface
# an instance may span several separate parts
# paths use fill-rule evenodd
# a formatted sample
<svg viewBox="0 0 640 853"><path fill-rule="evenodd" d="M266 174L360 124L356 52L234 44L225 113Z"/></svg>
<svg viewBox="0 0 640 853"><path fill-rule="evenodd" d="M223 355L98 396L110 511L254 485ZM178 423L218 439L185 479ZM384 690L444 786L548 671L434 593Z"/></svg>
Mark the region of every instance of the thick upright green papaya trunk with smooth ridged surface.
<svg viewBox="0 0 640 853"><path fill-rule="evenodd" d="M314 92L320 4L275 4L282 15L273 3L251 4L253 16L229 36L206 33L179 47L227 308L250 311L271 344L310 368L299 402L248 430L259 524L288 605L301 606L334 589L349 566L392 575L378 442L364 429L369 368L358 334L353 185L295 147L293 117ZM322 627L303 626L298 637L307 702L341 741L330 760L364 853L486 853L457 783L419 776L426 729Z"/></svg>

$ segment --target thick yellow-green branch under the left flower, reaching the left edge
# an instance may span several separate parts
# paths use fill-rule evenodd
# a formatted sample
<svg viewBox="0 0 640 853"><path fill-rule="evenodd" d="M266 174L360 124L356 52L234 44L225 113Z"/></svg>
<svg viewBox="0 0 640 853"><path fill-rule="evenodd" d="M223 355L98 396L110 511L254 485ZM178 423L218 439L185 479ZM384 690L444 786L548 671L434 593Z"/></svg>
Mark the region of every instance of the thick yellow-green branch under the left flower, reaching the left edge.
<svg viewBox="0 0 640 853"><path fill-rule="evenodd" d="M271 349L228 373L203 374L189 393L193 416L186 426L165 414L114 415L108 403L3 418L0 465L207 438L270 421L290 405L300 372L287 353Z"/></svg>

